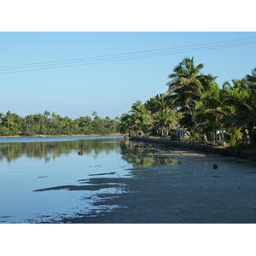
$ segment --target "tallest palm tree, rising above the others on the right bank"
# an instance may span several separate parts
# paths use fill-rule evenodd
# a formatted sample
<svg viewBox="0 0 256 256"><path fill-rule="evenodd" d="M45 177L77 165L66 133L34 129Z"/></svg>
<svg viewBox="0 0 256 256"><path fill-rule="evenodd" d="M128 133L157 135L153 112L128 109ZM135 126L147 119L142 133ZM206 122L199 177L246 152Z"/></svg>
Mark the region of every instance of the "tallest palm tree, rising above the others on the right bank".
<svg viewBox="0 0 256 256"><path fill-rule="evenodd" d="M188 128L187 131L192 140L200 136L199 116L195 118L195 113L199 110L196 106L201 101L201 94L217 86L215 82L217 77L201 73L203 67L202 63L195 66L194 57L185 58L168 77L172 79L168 83L168 91L174 93L171 96L175 100L174 106L180 113L183 113L179 124Z"/></svg>

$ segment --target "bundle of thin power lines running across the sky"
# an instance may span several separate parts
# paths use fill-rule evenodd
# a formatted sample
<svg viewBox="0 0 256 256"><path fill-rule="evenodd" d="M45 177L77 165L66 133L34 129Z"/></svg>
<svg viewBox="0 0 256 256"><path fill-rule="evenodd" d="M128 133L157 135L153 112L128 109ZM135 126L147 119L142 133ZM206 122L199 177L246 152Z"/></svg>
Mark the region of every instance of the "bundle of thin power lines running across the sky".
<svg viewBox="0 0 256 256"><path fill-rule="evenodd" d="M47 61L47 62L37 62L37 63L22 64L22 65L15 65L15 66L5 66L5 67L0 67L0 74L31 72L31 71L61 68L61 67L76 67L76 66L113 62L113 61L128 61L128 60L156 57L156 56L162 56L162 55L174 55L174 54L187 53L191 51L230 48L230 47L236 47L236 46L244 46L248 44L256 44L255 39L256 38L244 38L244 39L221 41L221 42L214 42L214 43L207 43L207 44L178 46L178 47L165 48L165 49L143 50L143 51L137 51L137 52L124 53L124 54L92 56L92 57L84 57L84 58L69 59L69 60L62 60L62 61ZM249 41L246 41L246 40L249 40ZM235 42L235 43L230 43L230 42ZM230 44L225 44L225 43L230 43Z"/></svg>

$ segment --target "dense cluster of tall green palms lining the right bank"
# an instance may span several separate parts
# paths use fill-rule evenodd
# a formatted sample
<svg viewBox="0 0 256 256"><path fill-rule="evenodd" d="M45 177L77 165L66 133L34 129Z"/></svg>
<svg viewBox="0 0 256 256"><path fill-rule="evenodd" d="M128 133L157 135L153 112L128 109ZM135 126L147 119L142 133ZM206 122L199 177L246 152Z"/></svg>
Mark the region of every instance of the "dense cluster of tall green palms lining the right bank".
<svg viewBox="0 0 256 256"><path fill-rule="evenodd" d="M256 141L256 68L220 87L216 76L201 72L203 67L194 57L184 58L168 76L166 94L135 102L121 116L120 131L166 137L180 125L190 141L224 146Z"/></svg>

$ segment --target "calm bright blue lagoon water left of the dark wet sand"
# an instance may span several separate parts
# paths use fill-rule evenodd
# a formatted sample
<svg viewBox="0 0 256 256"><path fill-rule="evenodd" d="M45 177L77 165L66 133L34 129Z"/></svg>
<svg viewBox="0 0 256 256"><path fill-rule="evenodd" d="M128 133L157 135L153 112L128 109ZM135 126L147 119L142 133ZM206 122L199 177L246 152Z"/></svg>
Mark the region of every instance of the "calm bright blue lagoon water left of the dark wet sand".
<svg viewBox="0 0 256 256"><path fill-rule="evenodd" d="M127 148L124 137L0 138L0 223L61 222L100 211L92 204L97 194L123 193L121 188L61 186L79 188L93 177L128 175L134 162Z"/></svg>

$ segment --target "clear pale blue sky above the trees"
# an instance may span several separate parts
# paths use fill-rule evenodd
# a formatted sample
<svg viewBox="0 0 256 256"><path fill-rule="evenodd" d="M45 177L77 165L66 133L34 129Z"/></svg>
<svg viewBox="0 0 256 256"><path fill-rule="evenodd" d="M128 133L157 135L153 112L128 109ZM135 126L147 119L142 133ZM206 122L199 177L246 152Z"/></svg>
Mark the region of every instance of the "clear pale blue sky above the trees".
<svg viewBox="0 0 256 256"><path fill-rule="evenodd" d="M0 67L205 44L198 46L202 49L209 43L246 38L256 42L256 32L0 32ZM238 42L245 41L226 44ZM219 86L256 67L255 43L191 48L171 55L153 57L146 52L146 58L2 73L0 112L25 117L48 110L75 119L95 111L102 118L114 118L130 111L137 100L165 93L168 75L184 57L203 63L202 72L218 76Z"/></svg>

